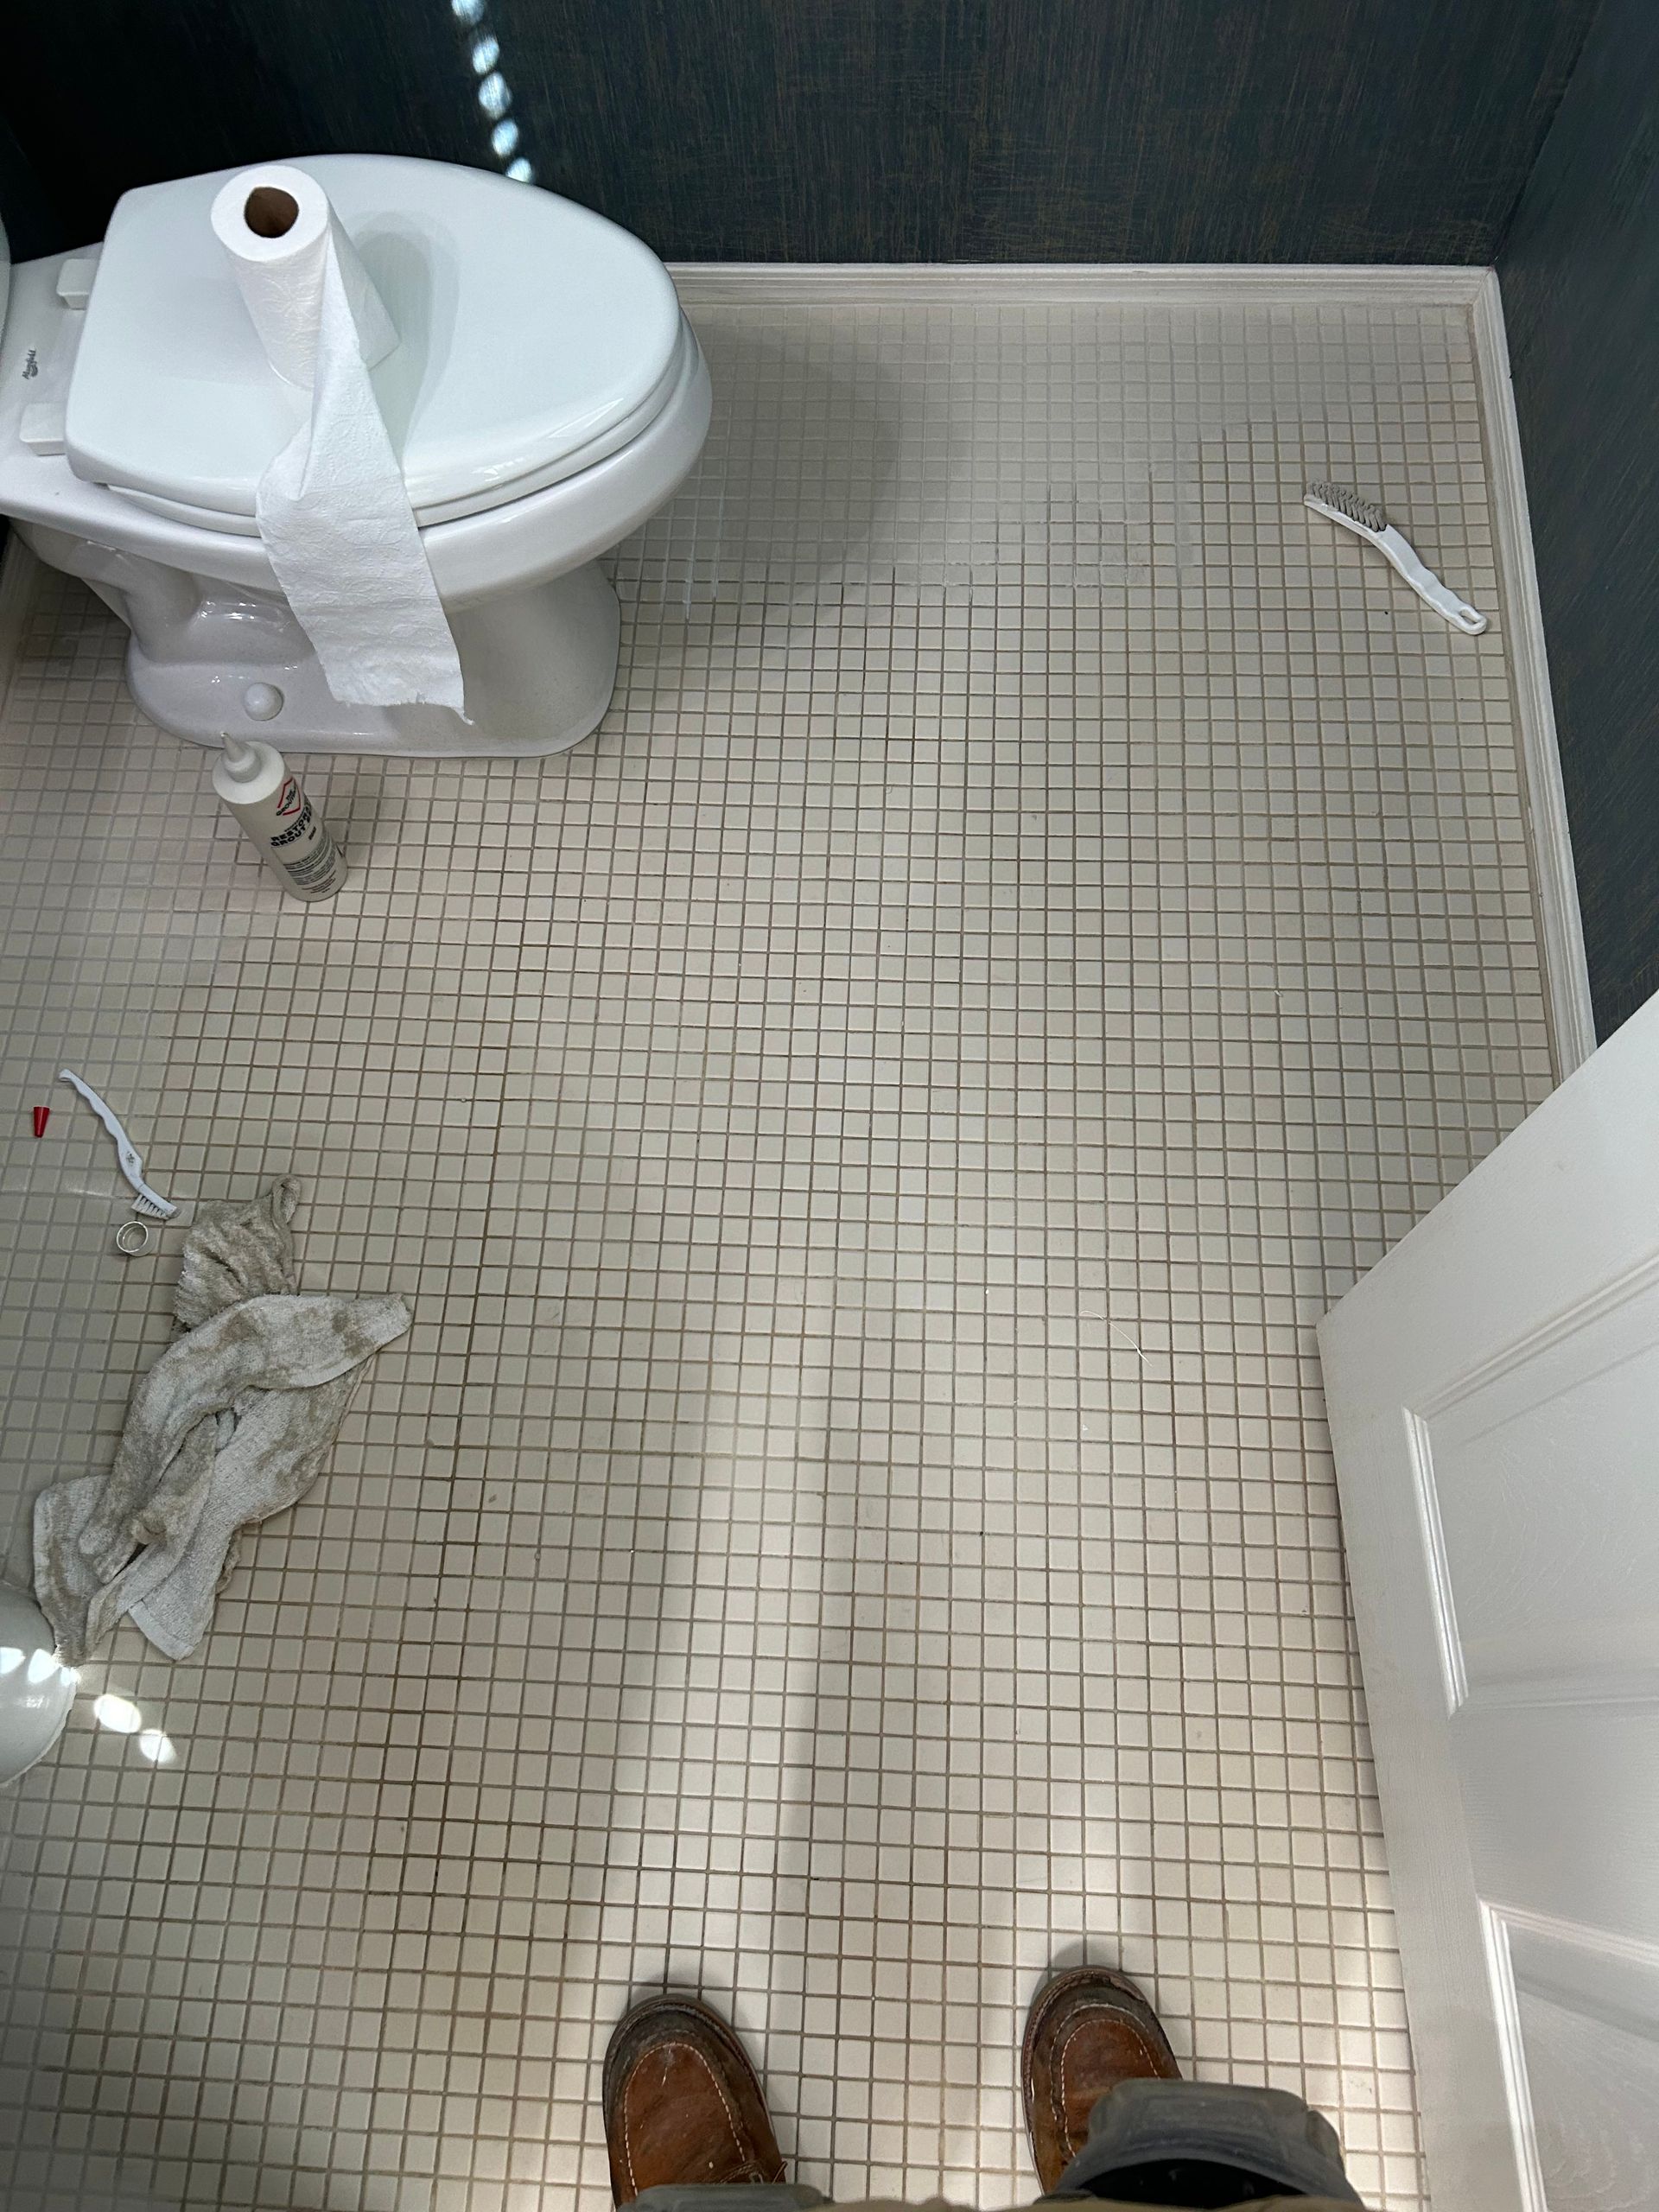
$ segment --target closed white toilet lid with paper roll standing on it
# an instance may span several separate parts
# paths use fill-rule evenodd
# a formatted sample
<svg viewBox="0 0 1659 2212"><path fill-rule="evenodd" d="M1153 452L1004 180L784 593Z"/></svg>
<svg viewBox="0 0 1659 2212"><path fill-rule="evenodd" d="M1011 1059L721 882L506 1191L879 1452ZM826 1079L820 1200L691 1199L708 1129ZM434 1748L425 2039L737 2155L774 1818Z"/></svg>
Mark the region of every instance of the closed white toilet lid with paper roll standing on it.
<svg viewBox="0 0 1659 2212"><path fill-rule="evenodd" d="M403 343L374 369L416 518L447 522L575 476L661 411L679 299L648 246L588 208L447 161L296 161L334 201ZM69 387L88 482L250 531L305 394L265 361L208 210L237 170L126 192Z"/></svg>

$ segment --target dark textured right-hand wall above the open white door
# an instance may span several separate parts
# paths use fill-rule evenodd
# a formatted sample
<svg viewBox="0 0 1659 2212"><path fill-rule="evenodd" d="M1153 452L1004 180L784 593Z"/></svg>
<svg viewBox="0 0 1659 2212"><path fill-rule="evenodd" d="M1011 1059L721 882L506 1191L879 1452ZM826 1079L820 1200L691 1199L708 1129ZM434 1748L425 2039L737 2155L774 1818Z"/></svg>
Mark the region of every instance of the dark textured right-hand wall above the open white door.
<svg viewBox="0 0 1659 2212"><path fill-rule="evenodd" d="M1659 987L1655 0L1604 0L1498 272L1606 1035Z"/></svg>

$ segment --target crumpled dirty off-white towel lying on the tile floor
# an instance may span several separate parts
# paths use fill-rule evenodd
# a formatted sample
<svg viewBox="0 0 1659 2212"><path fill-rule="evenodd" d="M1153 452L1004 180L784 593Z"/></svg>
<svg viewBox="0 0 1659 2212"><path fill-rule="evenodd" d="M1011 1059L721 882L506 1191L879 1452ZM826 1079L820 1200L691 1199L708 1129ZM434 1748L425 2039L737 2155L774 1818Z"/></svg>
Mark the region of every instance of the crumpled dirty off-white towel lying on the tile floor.
<svg viewBox="0 0 1659 2212"><path fill-rule="evenodd" d="M106 1475L35 1500L35 1597L75 1666L131 1613L184 1659L237 1537L321 1473L363 1363L409 1327L403 1298L301 1296L299 1183L192 1225L173 1312L188 1332L133 1391Z"/></svg>

